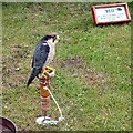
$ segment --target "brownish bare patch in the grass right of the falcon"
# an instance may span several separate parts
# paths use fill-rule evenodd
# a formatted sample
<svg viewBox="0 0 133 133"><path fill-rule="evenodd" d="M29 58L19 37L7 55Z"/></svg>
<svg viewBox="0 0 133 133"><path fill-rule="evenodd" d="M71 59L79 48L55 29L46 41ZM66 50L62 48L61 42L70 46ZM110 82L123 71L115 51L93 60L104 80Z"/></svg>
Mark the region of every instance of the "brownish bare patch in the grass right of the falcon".
<svg viewBox="0 0 133 133"><path fill-rule="evenodd" d="M54 62L58 68L66 69L68 73L72 76L79 76L85 83L99 84L106 82L106 73L98 72L89 66L86 68L85 61L81 57L74 57L68 60L58 60Z"/></svg>

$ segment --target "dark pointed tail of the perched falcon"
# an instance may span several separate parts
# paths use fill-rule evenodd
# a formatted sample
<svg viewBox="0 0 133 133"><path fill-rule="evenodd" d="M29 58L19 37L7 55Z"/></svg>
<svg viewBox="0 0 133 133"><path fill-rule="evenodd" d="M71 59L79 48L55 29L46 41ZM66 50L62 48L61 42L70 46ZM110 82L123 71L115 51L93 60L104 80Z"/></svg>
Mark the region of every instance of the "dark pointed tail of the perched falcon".
<svg viewBox="0 0 133 133"><path fill-rule="evenodd" d="M27 83L27 88L29 88L29 85L34 80L34 78L39 74L39 72L40 72L39 69L35 69L35 68L32 69L31 75L30 75L28 83Z"/></svg>

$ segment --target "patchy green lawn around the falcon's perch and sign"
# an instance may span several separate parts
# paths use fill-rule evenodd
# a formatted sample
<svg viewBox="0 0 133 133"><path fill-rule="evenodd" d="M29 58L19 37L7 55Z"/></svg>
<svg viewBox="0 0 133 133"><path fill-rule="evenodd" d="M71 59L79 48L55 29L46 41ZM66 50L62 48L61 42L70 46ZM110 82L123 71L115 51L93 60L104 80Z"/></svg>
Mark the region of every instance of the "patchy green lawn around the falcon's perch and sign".
<svg viewBox="0 0 133 133"><path fill-rule="evenodd" d="M95 3L2 4L2 115L20 131L131 131L131 24L95 27ZM132 10L132 3L130 11ZM65 121L35 123L41 115L38 80L25 89L38 41L57 31L53 95ZM17 71L19 68L19 71ZM50 115L58 116L51 101Z"/></svg>

